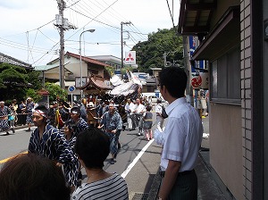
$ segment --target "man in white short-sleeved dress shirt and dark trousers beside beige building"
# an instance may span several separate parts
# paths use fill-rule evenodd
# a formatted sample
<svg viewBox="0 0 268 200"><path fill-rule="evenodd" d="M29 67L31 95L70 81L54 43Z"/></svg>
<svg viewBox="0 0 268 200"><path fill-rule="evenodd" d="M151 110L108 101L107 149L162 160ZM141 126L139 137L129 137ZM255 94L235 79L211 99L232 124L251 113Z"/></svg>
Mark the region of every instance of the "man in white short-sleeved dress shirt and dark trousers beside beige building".
<svg viewBox="0 0 268 200"><path fill-rule="evenodd" d="M162 186L158 199L197 199L198 151L201 145L203 125L197 110L184 97L187 85L185 71L169 67L160 71L159 87L169 105L169 115L163 130L161 157Z"/></svg>

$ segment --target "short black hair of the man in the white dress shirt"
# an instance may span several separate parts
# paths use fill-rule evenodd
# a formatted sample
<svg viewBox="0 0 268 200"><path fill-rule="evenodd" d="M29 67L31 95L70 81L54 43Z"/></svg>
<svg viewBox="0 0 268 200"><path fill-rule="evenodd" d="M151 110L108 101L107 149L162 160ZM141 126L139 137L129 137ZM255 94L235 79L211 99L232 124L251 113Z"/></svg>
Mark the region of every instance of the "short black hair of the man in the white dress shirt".
<svg viewBox="0 0 268 200"><path fill-rule="evenodd" d="M167 67L159 72L160 87L166 87L170 95L176 98L184 96L187 86L187 74L179 67Z"/></svg>

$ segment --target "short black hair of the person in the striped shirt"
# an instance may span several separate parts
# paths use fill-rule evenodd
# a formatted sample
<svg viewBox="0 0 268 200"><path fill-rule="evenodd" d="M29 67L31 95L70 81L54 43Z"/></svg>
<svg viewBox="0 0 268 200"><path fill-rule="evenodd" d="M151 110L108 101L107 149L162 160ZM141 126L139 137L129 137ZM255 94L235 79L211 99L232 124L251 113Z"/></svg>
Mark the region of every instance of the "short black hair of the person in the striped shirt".
<svg viewBox="0 0 268 200"><path fill-rule="evenodd" d="M87 168L102 169L110 153L110 139L101 129L88 128L78 135L74 150Z"/></svg>

